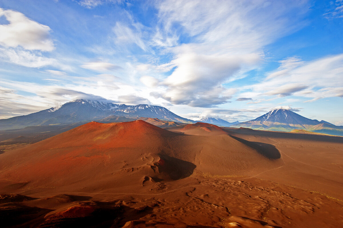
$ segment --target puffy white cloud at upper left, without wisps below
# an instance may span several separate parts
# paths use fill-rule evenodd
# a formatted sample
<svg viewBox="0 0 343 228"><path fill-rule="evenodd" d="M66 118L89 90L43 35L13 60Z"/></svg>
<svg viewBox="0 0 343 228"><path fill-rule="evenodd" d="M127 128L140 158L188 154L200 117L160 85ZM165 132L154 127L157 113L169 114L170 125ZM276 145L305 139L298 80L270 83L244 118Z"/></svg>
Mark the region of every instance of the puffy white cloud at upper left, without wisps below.
<svg viewBox="0 0 343 228"><path fill-rule="evenodd" d="M52 51L55 49L50 38L50 27L28 19L24 14L0 8L9 24L0 24L0 44L5 47L21 46L26 50Z"/></svg>

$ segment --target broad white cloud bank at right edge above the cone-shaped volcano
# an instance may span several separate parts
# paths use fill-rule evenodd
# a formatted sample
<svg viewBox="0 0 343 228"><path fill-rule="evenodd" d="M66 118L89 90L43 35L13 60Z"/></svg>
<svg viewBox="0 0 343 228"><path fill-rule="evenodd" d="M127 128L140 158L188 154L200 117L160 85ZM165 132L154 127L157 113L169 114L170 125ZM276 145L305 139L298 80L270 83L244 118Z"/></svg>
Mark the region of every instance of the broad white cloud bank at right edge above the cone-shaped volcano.
<svg viewBox="0 0 343 228"><path fill-rule="evenodd" d="M281 67L271 72L264 81L244 86L243 89L252 89L255 96L295 95L311 98L306 101L311 102L324 97L342 96L342 75L343 54L308 62L298 58L288 58L281 62Z"/></svg>

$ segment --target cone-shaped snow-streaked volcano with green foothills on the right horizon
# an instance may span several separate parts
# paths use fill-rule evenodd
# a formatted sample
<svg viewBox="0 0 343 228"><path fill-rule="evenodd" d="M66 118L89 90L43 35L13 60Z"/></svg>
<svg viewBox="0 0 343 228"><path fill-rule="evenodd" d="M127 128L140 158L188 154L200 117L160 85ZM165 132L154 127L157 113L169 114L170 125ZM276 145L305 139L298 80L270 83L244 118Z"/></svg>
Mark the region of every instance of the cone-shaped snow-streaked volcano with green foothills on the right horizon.
<svg viewBox="0 0 343 228"><path fill-rule="evenodd" d="M301 129L343 136L343 126L336 126L323 120L311 120L286 109L272 110L254 120L234 124L230 127L286 132L293 131L295 129Z"/></svg>

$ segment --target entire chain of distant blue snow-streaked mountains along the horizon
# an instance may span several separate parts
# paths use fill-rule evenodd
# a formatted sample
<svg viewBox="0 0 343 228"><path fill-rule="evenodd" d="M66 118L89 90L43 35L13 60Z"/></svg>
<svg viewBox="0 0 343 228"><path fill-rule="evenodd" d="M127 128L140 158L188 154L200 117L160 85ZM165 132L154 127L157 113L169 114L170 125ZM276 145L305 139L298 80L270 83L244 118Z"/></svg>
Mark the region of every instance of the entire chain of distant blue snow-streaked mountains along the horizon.
<svg viewBox="0 0 343 228"><path fill-rule="evenodd" d="M343 126L336 126L327 121L311 120L299 114L286 110L272 110L254 120L239 123L230 123L220 118L202 118L193 121L176 115L168 109L154 105L118 105L96 100L78 99L70 101L60 108L50 108L31 113L25 116L17 116L0 120L0 130L22 129L29 126L55 126L61 124L82 124L84 122L126 122L138 118L157 118L155 123L161 127L176 126L178 123L204 122L223 127L251 128L255 130L285 131L295 129L317 133L342 135ZM174 123L164 122L173 121ZM153 121L154 120L149 120ZM155 122L156 122L155 121ZM171 124L171 125L170 125Z"/></svg>

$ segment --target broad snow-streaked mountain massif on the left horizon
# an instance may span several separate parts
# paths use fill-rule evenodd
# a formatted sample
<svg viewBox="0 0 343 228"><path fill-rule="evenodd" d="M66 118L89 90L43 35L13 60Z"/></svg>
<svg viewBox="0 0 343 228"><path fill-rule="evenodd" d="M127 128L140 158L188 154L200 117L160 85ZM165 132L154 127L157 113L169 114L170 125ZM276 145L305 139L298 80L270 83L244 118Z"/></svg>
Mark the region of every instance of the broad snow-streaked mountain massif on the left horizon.
<svg viewBox="0 0 343 228"><path fill-rule="evenodd" d="M60 108L50 108L25 116L1 119L0 130L21 129L28 126L93 121L109 116L121 116L127 118L149 117L181 123L195 123L195 121L180 117L161 106L118 105L96 100L78 99L70 101L62 105Z"/></svg>

